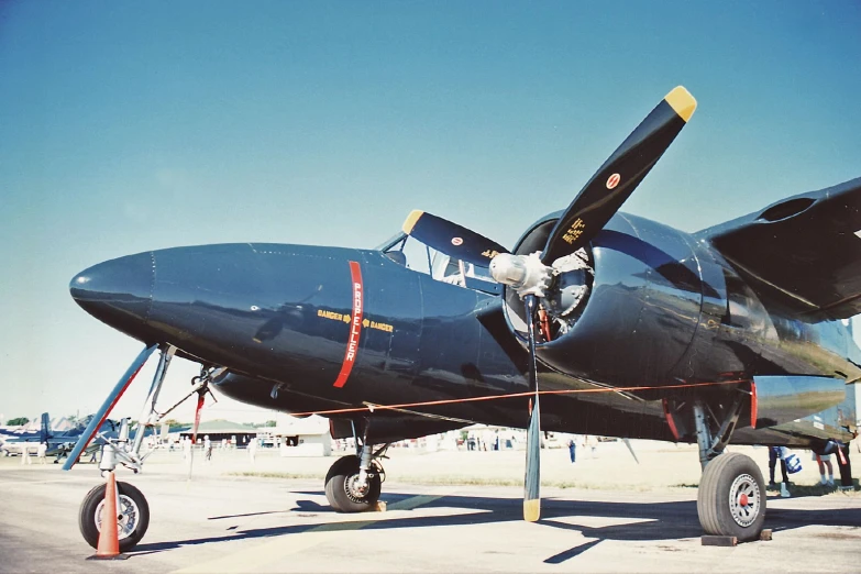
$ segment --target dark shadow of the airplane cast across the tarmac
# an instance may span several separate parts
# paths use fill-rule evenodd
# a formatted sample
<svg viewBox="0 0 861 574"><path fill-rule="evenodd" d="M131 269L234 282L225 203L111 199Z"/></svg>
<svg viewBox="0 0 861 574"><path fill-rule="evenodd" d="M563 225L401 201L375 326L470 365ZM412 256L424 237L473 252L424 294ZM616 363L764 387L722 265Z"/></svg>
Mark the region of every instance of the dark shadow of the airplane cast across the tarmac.
<svg viewBox="0 0 861 574"><path fill-rule="evenodd" d="M322 492L303 492L298 494L324 496ZM412 496L413 495L389 493L384 495L382 499L391 505L400 500L412 498ZM410 516L391 519L379 519L379 515L369 512L367 515L368 523L363 528L367 530L385 530L393 528L426 528L435 526L474 526L482 523L498 523L522 520L521 498L443 496L422 505L420 508L422 510L432 508L463 508L465 510L470 510L470 512L464 515L430 517ZM289 515L292 512L307 516L314 516L318 514L335 515L335 512L330 507L321 506L313 500L298 500L297 507L287 512L283 510L272 510L247 515L211 517L210 520L243 518L269 514ZM581 533L584 538L587 539L587 541L564 552L555 554L554 556L551 556L544 561L545 563L551 564L561 563L575 558L604 540L661 541L683 538L697 538L703 533L699 526L699 520L697 518L695 500L640 504L579 501L570 499L560 500L554 498L544 498L542 500L541 514L541 520L538 521L539 526L572 530L574 532ZM614 520L630 519L637 521L598 528L560 521L560 519L574 519L576 521L578 517L596 517ZM801 528L809 525L858 527L861 525L861 508L828 510L770 508L768 518L765 520L765 528L770 528L774 531ZM177 540L170 542L156 542L151 544L137 544L131 554L150 554L164 552L185 545L207 544L212 542L271 538L285 534L300 534L319 526L319 523L290 525L285 527L269 527L249 530L238 530L236 527L229 527L225 529L227 532L224 536ZM344 530L353 530L355 529L355 519L343 522L327 522L327 528L330 531L336 531L339 526L343 526Z"/></svg>

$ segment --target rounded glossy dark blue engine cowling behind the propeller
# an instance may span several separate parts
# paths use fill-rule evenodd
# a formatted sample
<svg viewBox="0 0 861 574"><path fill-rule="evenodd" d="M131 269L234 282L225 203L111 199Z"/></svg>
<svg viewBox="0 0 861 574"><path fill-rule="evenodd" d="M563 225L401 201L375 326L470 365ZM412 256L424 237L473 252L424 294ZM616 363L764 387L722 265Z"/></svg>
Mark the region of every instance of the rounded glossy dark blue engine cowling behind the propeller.
<svg viewBox="0 0 861 574"><path fill-rule="evenodd" d="M543 249L554 223L539 222L516 253ZM618 386L672 384L700 323L704 292L721 305L720 294L700 279L695 252L678 231L614 217L587 250L594 275L562 273L541 299L549 320L538 358L567 375ZM509 325L525 341L523 302L511 288L505 297Z"/></svg>

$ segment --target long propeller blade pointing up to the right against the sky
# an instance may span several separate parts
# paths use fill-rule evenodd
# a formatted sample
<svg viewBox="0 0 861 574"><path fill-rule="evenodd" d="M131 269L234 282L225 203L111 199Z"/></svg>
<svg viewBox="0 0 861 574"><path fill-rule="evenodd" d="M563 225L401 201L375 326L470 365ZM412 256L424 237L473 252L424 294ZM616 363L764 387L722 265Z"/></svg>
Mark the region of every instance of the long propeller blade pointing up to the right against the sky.
<svg viewBox="0 0 861 574"><path fill-rule="evenodd" d="M577 194L548 238L541 262L586 245L630 197L696 110L682 86L674 88L631 132Z"/></svg>

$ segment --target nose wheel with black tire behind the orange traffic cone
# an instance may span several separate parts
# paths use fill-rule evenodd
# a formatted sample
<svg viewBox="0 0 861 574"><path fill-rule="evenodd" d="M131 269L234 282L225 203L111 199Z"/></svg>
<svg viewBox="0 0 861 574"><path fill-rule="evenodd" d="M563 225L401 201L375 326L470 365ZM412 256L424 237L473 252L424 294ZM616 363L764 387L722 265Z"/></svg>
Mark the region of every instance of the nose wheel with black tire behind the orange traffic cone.
<svg viewBox="0 0 861 574"><path fill-rule="evenodd" d="M104 501L106 488L104 484L100 484L87 493L78 511L80 533L92 548L99 545L100 505ZM120 492L121 506L118 511L123 515L123 519L118 525L120 552L128 552L141 541L150 527L150 505L146 504L146 498L141 490L129 483L117 481L117 488Z"/></svg>

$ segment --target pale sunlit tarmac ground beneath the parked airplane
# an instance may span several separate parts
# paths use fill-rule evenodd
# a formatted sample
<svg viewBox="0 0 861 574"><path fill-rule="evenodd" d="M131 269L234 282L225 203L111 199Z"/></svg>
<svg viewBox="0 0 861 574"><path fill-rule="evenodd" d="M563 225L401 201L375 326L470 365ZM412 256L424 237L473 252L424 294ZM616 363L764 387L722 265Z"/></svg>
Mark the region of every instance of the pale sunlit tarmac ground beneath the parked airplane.
<svg viewBox="0 0 861 574"><path fill-rule="evenodd" d="M287 464L322 468L333 461ZM269 464L284 463L272 455ZM700 543L693 488L543 488L542 518L526 523L522 489L512 486L389 479L385 512L339 515L320 479L222 471L201 467L191 482L168 464L139 476L119 471L146 496L150 529L129 560L92 562L77 515L99 482L95 465L65 473L2 459L0 572L861 571L857 495L770 497L772 541L715 548Z"/></svg>

